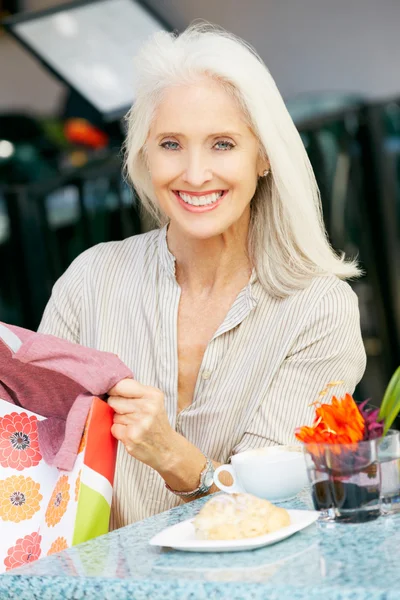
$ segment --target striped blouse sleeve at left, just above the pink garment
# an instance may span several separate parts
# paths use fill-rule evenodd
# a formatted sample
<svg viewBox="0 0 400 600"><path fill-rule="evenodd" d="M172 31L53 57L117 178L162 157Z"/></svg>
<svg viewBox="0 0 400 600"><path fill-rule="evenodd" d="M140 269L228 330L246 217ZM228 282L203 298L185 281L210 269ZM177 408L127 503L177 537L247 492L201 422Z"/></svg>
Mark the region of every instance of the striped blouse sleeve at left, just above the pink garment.
<svg viewBox="0 0 400 600"><path fill-rule="evenodd" d="M80 254L53 286L38 331L80 342L80 323L86 273L93 248Z"/></svg>

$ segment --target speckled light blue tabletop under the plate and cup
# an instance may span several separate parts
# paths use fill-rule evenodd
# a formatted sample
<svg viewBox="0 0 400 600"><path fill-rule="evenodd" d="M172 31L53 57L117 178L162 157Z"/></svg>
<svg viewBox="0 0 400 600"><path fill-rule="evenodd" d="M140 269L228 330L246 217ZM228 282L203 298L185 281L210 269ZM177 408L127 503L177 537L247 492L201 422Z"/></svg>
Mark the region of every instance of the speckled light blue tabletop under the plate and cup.
<svg viewBox="0 0 400 600"><path fill-rule="evenodd" d="M149 539L204 500L0 576L15 600L399 600L400 516L311 525L279 544L224 554L159 549ZM288 508L309 508L303 494Z"/></svg>

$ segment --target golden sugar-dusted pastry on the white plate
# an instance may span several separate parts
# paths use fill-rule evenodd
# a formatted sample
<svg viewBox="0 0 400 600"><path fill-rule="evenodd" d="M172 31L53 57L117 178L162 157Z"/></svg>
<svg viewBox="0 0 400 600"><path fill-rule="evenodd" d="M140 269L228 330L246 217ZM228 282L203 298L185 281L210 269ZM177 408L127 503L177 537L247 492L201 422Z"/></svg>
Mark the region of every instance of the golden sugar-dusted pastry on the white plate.
<svg viewBox="0 0 400 600"><path fill-rule="evenodd" d="M251 494L218 494L194 519L200 540L239 540L290 525L287 510Z"/></svg>

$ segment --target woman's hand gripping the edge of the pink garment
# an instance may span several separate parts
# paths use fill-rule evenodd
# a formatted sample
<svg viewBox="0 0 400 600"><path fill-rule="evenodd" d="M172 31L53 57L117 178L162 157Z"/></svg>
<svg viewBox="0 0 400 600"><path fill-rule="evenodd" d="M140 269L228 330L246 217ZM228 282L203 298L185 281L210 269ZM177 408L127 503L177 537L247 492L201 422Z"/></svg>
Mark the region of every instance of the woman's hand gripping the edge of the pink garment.
<svg viewBox="0 0 400 600"><path fill-rule="evenodd" d="M180 437L168 421L164 394L134 379L122 379L108 394L108 404L115 410L113 436L129 454L163 471Z"/></svg>

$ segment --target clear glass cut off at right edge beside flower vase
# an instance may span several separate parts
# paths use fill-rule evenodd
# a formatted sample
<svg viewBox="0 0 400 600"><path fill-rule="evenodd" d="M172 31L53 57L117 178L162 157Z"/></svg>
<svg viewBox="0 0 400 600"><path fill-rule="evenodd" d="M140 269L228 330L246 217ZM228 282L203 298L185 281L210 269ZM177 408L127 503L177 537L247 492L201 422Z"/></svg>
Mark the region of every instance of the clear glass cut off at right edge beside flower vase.
<svg viewBox="0 0 400 600"><path fill-rule="evenodd" d="M400 432L389 429L378 443L381 465L381 511L383 515L400 512Z"/></svg>

